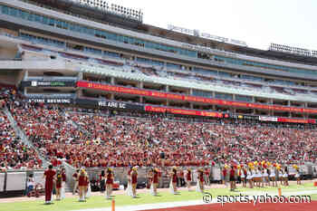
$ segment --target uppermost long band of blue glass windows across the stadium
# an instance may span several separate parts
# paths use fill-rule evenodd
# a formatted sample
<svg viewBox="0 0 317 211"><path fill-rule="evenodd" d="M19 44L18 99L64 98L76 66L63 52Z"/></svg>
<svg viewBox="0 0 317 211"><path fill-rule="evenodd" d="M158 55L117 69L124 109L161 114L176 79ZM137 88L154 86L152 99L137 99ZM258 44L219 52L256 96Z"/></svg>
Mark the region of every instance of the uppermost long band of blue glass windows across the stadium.
<svg viewBox="0 0 317 211"><path fill-rule="evenodd" d="M78 34L69 31L55 28L49 25L42 25L25 20L20 20L12 16L0 14L0 26L12 29L15 31L25 30L30 32L36 32L37 34L46 34L49 36L56 36L64 40L72 40L78 43L87 43L95 46L102 46L112 50L119 50L125 53L131 53L139 56L149 56L158 59L167 60L170 62L181 62L189 65L198 65L203 67L214 67L217 69L227 70L235 73L251 73L257 75L267 75L273 77L283 77L284 79L303 80L309 82L317 82L317 76L306 75L300 73L279 72L273 70L265 70L261 68L253 68L248 66L239 66L233 64L224 64L219 62L212 62L203 59L197 59L192 57L181 56L175 53L161 52L159 50L146 49L132 44L116 43L109 40L104 40L98 37L88 36L85 34Z"/></svg>

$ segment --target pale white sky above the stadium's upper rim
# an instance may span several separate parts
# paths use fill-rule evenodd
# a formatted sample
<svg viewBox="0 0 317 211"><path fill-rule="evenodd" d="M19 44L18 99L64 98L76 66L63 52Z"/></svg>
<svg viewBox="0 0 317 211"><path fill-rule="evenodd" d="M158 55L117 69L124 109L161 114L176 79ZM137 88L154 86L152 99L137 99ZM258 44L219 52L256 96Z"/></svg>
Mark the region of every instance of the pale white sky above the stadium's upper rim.
<svg viewBox="0 0 317 211"><path fill-rule="evenodd" d="M317 50L316 0L110 0L108 3L142 9L145 24L197 29L264 50L270 43Z"/></svg>

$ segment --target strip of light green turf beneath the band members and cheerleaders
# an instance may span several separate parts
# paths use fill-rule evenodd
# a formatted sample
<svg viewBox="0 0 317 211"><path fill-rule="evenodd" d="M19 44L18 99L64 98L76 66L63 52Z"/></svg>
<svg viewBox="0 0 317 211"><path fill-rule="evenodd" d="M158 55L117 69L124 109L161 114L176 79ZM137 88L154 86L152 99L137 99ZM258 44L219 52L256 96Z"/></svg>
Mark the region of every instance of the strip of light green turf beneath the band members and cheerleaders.
<svg viewBox="0 0 317 211"><path fill-rule="evenodd" d="M302 186L291 185L290 187L282 187L283 193L298 193L299 191L306 190L317 190L317 187L313 187L312 183L306 183ZM239 195L243 193L276 193L276 187L265 187L265 188L238 188L235 192L230 192L228 188L211 188L207 189L206 192L210 193L213 197L216 196L230 196ZM311 195L313 200L317 200L317 195ZM144 205L144 204L155 204L164 202L178 202L178 201L189 201L202 199L203 195L196 191L188 192L186 190L180 191L179 195L172 195L169 192L161 192L159 196L153 197L149 193L138 194L137 198L131 198L126 195L116 195L112 197L115 199L116 206L133 206L133 205ZM101 208L110 207L111 200L107 200L101 196L94 196L87 200L87 202L78 202L78 197L67 197L62 201L54 201L53 205L44 205L43 200L35 201L24 201L24 202L11 202L11 203L0 203L0 211L67 211L67 210L78 210L88 208ZM177 204L176 204L177 206Z"/></svg>

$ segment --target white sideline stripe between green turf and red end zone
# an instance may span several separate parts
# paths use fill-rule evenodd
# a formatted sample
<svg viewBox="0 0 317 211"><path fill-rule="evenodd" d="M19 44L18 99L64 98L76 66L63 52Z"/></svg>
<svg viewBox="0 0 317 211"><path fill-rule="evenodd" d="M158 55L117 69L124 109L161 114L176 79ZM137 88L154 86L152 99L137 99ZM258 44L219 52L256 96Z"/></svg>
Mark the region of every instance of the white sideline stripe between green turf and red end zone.
<svg viewBox="0 0 317 211"><path fill-rule="evenodd" d="M277 196L274 193L268 193L268 192L257 192L257 193L241 193L242 195L248 195L248 196L263 196L264 194L268 194L269 196ZM282 196L300 196L300 195L312 195L317 194L317 190L305 190L301 192L283 192ZM216 196L215 196L216 197ZM213 196L213 200L211 203L216 203L216 198ZM139 210L150 210L150 209L161 209L161 208L172 208L172 207L178 207L178 206L199 206L199 205L208 205L203 200L192 200L192 201L178 201L178 202L167 202L167 203L156 203L156 204L145 204L145 205L139 205L139 206L116 206L116 211L139 211ZM111 211L111 207L106 208L91 208L91 209L80 209L75 211Z"/></svg>

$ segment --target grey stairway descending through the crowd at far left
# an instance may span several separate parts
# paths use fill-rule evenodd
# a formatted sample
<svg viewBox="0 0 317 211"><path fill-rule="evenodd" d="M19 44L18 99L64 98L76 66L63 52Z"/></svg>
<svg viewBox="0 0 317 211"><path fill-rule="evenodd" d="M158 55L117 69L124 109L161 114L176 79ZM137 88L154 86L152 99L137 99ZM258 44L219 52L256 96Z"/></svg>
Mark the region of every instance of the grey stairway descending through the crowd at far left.
<svg viewBox="0 0 317 211"><path fill-rule="evenodd" d="M29 146L30 148L33 148L37 152L37 154L39 155L39 158L42 159L43 168L47 168L49 165L49 162L43 157L43 155L40 153L40 151L34 147L34 144L27 138L24 131L22 129L20 129L20 127L17 125L16 121L14 120L14 117L12 116L11 112L7 108L5 108L3 111L5 112L5 115L7 116L12 127L14 128L15 134L17 134L17 136L19 136L21 138L21 141L25 145Z"/></svg>

